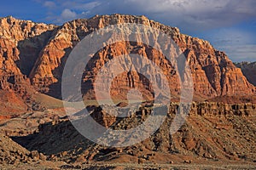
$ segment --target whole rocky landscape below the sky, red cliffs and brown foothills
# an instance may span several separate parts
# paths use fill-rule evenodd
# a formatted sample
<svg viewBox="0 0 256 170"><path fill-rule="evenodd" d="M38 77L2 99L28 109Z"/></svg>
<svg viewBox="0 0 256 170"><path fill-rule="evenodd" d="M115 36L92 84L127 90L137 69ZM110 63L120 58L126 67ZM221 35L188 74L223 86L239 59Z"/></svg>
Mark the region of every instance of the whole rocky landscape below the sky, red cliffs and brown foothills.
<svg viewBox="0 0 256 170"><path fill-rule="evenodd" d="M104 26L122 23L140 23L170 35L189 63L195 95L201 99L209 98L209 101L210 98L212 101L213 98L220 101L230 99L230 105L222 102L194 102L184 125L177 133L169 135L178 109L177 103L172 103L166 121L156 133L141 143L124 148L104 147L85 139L60 108L46 110L44 114L40 111L27 112L29 108L26 104L32 102L32 94L38 93L36 90L61 98L61 76L67 57L86 35ZM98 71L108 60L120 54L140 54L154 61L170 82L172 94L178 98L180 84L177 71L163 54L140 42L117 42L91 56L89 64L84 68L81 83L85 99L95 99L92 86ZM141 64L145 65L143 62ZM38 163L46 159L54 161L53 164L65 161L63 168L76 168L68 167L67 163L98 161L163 165L196 161L199 164L223 161L225 166L226 162L234 161L253 164L256 160L256 100L248 100L246 97L255 95L255 88L250 83L254 83L253 79L243 76L242 71L250 75L243 68L247 67L236 68L226 54L213 48L209 42L189 37L175 27L161 25L144 16L95 16L89 20L73 20L63 26L38 24L13 17L1 18L0 120L5 135L0 135L0 167L20 162L31 165L31 161L38 166ZM152 79L158 78L154 70L146 67L145 70ZM103 88L108 87L102 84ZM131 88L140 89L143 99L153 99L151 83L136 71L124 72L115 77L110 94L125 99ZM247 104L234 104L234 95L237 98L246 95L236 103ZM49 98L44 100L56 102ZM126 105L125 102L117 104L121 107ZM35 104L34 107L39 106ZM108 111L111 112L111 108ZM90 116L104 127L129 129L140 125L151 114L150 107L146 106L125 118L109 115L108 111L94 105L90 108ZM24 114L19 116L19 113ZM60 117L61 114L63 117ZM6 135L14 136L9 139Z"/></svg>

